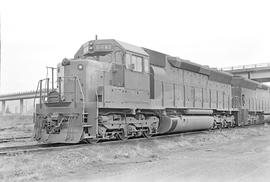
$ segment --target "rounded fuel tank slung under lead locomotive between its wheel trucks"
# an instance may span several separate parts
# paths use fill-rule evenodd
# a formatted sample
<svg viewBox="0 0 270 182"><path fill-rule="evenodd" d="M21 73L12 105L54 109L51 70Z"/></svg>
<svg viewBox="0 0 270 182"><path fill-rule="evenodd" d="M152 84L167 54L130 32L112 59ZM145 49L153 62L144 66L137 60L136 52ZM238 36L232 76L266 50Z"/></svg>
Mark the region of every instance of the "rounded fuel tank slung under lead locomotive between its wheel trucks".
<svg viewBox="0 0 270 182"><path fill-rule="evenodd" d="M207 130L213 127L212 116L163 116L158 132L175 133L195 130Z"/></svg>

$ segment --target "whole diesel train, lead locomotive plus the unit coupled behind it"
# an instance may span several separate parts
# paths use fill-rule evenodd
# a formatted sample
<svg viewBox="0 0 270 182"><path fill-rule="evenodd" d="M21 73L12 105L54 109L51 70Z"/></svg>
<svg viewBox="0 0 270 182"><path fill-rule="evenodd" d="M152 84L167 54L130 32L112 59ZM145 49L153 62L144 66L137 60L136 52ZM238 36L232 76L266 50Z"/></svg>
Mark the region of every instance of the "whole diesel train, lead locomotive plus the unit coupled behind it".
<svg viewBox="0 0 270 182"><path fill-rule="evenodd" d="M257 124L270 110L264 85L113 39L86 42L56 70L38 86L42 143Z"/></svg>

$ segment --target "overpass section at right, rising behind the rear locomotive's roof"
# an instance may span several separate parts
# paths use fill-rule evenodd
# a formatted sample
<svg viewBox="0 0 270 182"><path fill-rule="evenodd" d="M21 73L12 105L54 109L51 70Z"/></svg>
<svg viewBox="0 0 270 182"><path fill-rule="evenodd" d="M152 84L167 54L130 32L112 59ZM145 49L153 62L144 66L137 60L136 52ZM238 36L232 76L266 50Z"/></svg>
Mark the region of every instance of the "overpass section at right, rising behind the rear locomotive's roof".
<svg viewBox="0 0 270 182"><path fill-rule="evenodd" d="M270 63L226 67L221 70L257 82L270 82Z"/></svg>

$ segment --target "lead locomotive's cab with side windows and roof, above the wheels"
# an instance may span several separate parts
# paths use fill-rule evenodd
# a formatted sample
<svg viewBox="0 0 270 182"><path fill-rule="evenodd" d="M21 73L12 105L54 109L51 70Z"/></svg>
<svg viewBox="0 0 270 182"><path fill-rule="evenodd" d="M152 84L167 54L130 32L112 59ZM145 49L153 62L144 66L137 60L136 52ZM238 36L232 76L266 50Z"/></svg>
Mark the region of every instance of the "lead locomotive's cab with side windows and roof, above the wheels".
<svg viewBox="0 0 270 182"><path fill-rule="evenodd" d="M91 58L109 67L100 75L104 80L98 88L99 107L149 107L149 55L142 48L116 40L95 40L85 43L74 57Z"/></svg>

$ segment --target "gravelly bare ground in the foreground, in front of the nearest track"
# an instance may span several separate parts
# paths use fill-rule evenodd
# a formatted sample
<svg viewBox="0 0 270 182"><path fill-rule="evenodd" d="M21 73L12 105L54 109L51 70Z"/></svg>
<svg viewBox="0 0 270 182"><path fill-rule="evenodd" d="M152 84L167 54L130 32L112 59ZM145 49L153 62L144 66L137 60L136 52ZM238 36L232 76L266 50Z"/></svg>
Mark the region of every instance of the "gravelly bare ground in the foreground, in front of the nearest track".
<svg viewBox="0 0 270 182"><path fill-rule="evenodd" d="M0 181L269 181L269 154L265 124L0 156Z"/></svg>

